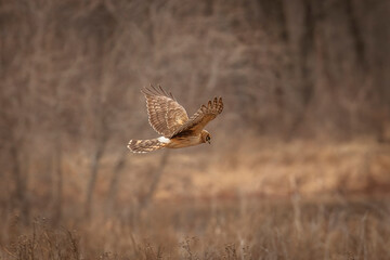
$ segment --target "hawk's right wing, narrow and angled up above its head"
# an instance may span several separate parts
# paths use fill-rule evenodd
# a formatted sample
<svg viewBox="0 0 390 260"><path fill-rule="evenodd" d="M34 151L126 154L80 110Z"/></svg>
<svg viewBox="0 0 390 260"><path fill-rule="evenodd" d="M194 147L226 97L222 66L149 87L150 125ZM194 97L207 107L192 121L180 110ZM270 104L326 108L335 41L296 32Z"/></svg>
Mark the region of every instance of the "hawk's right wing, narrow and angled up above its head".
<svg viewBox="0 0 390 260"><path fill-rule="evenodd" d="M191 130L194 134L200 133L205 126L223 110L222 98L214 98L207 106L203 105L183 126L178 128L172 136L180 132Z"/></svg>

